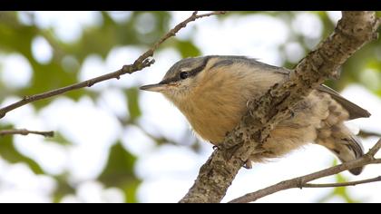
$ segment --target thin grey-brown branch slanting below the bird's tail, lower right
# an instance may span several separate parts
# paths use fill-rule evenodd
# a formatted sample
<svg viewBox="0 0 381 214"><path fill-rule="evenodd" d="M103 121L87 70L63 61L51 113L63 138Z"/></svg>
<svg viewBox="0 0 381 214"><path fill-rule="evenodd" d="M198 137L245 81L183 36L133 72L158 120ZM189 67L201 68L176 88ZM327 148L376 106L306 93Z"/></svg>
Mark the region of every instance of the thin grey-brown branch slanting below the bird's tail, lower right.
<svg viewBox="0 0 381 214"><path fill-rule="evenodd" d="M317 179L327 177L330 175L335 175L344 170L350 170L350 169L365 166L368 164L378 164L380 163L380 160L375 159L374 155L380 148L381 148L381 139L376 142L376 145L370 151L368 151L366 155L364 155L363 157L357 160L348 161L348 162L339 164L335 167L330 167L326 170L320 170L320 171L317 171L305 176L301 176L295 179L281 181L278 184L269 186L265 189L246 194L242 197L239 197L238 199L233 199L230 201L230 203L248 203L248 202L255 201L257 199L263 198L265 196L268 196L270 194L273 194L281 190L288 190L293 188L301 189L305 187L305 185L307 185L307 183L311 180L317 180ZM316 186L318 184L310 184L310 185Z"/></svg>

